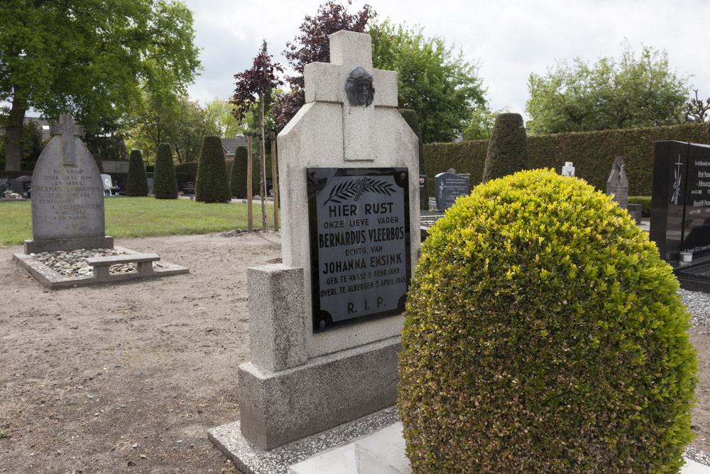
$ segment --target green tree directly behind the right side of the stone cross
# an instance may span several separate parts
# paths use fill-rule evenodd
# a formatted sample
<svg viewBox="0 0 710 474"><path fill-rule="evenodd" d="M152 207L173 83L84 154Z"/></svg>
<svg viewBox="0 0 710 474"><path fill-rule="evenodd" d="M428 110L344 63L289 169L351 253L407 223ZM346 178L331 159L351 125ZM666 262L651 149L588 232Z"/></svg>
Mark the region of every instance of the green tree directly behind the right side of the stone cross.
<svg viewBox="0 0 710 474"><path fill-rule="evenodd" d="M427 38L421 26L371 24L372 62L397 71L399 107L417 112L425 143L453 141L476 107L486 104L475 63L444 39Z"/></svg>

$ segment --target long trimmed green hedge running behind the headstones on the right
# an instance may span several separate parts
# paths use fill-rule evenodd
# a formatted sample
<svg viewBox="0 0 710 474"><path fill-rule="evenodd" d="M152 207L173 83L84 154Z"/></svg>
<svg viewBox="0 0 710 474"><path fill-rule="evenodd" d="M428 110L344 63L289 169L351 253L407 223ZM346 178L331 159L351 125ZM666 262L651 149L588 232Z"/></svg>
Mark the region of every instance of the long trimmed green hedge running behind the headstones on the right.
<svg viewBox="0 0 710 474"><path fill-rule="evenodd" d="M655 142L690 141L710 144L710 123L655 126L647 129L574 132L530 135L530 168L562 171L565 161L574 163L574 175L596 189L606 192L606 180L614 157L623 156L629 182L629 195L650 196L653 181ZM428 190L434 195L434 176L454 168L471 173L471 187L481 182L488 140L425 144Z"/></svg>

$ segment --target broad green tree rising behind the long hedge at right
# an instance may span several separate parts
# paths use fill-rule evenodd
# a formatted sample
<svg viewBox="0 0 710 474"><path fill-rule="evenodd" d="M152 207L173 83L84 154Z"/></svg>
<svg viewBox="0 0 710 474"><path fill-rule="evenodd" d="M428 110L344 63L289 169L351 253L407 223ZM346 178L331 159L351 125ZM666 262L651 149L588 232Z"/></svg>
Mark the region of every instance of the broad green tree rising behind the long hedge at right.
<svg viewBox="0 0 710 474"><path fill-rule="evenodd" d="M643 46L636 55L623 43L621 58L594 63L558 62L531 74L525 110L532 133L628 129L677 122L688 99L687 77L670 70L668 53Z"/></svg>

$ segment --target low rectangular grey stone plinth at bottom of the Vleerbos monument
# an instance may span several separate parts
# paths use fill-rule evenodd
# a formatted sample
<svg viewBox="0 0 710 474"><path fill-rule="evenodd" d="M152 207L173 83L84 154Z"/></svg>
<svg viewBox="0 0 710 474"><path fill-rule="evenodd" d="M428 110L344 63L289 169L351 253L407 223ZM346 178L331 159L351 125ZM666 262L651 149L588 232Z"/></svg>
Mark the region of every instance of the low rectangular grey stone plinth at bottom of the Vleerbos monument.
<svg viewBox="0 0 710 474"><path fill-rule="evenodd" d="M395 336L280 372L240 365L242 434L268 451L392 406L399 351Z"/></svg>

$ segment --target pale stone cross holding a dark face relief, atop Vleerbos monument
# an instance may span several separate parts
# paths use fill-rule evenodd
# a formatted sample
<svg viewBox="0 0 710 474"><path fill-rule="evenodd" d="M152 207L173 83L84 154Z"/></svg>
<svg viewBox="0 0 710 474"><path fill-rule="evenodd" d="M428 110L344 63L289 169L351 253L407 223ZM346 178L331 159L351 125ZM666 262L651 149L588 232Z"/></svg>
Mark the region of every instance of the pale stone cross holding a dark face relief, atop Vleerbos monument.
<svg viewBox="0 0 710 474"><path fill-rule="evenodd" d="M352 105L345 90L349 73L364 68L373 75L372 105ZM373 161L376 107L397 107L397 73L372 68L369 35L339 31L330 36L330 63L305 66L305 102L331 102L342 107L343 153L346 161Z"/></svg>

